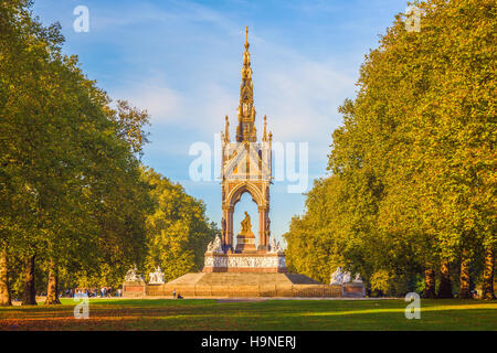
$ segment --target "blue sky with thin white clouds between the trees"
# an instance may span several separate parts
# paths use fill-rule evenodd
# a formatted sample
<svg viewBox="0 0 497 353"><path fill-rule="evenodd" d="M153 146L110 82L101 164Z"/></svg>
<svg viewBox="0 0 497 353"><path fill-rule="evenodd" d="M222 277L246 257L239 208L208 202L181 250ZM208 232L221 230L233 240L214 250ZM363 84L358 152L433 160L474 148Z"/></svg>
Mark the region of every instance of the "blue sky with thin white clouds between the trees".
<svg viewBox="0 0 497 353"><path fill-rule="evenodd" d="M89 32L73 30L73 10L89 10ZM221 218L221 186L189 178L189 148L214 148L229 115L234 136L245 25L250 29L256 126L267 115L275 141L308 142L309 181L326 174L337 107L353 98L364 54L403 12L402 0L141 1L36 0L44 24L59 21L64 52L76 54L87 76L113 99L128 99L151 115L144 162L202 199L210 220ZM214 168L213 172L218 173ZM213 175L216 178L218 174ZM287 232L304 212L305 195L272 188L272 234ZM247 194L236 205L257 229Z"/></svg>

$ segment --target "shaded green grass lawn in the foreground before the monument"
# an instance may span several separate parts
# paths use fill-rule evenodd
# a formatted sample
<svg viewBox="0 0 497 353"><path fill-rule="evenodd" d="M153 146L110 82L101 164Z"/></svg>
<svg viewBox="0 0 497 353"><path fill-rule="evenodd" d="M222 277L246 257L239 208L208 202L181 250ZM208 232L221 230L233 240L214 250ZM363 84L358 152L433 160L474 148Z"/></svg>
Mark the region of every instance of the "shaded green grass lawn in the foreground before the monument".
<svg viewBox="0 0 497 353"><path fill-rule="evenodd" d="M89 319L62 306L0 308L0 330L497 330L497 302L422 300L408 320L403 300L93 299Z"/></svg>

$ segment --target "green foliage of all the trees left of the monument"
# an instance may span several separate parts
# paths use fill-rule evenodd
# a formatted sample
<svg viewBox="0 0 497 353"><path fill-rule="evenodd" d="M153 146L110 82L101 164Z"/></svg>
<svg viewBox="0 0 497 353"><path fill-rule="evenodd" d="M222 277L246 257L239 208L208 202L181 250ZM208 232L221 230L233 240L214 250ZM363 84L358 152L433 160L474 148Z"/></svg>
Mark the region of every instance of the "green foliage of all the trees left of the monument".
<svg viewBox="0 0 497 353"><path fill-rule="evenodd" d="M0 292L9 282L20 297L32 256L39 292L49 263L60 288L117 287L134 263L161 265L168 279L201 268L215 228L200 201L144 171L147 111L112 108L62 53L60 25L43 26L31 6L0 2L0 249L10 263Z"/></svg>

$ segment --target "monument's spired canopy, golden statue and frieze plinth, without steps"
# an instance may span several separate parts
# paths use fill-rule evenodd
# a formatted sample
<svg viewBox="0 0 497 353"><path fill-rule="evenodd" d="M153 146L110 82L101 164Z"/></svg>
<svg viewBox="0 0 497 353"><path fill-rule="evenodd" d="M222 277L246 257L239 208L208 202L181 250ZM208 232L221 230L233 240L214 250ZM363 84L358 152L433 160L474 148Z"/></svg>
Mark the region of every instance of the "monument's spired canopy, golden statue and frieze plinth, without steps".
<svg viewBox="0 0 497 353"><path fill-rule="evenodd" d="M235 141L230 138L228 116L221 132L222 252L209 252L208 248L204 272L286 272L285 255L272 249L269 244L273 135L267 132L267 118L264 116L264 130L257 141L248 47L246 29ZM233 242L233 213L244 193L248 193L257 204L258 244L255 244L251 216L246 211L242 229L236 235L236 245Z"/></svg>

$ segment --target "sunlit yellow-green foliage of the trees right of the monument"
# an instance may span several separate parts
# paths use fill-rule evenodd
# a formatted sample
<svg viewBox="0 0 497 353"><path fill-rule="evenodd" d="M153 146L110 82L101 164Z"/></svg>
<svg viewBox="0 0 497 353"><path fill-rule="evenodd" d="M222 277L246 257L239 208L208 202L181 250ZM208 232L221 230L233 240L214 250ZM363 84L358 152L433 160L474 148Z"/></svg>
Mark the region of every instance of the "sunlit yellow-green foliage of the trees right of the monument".
<svg viewBox="0 0 497 353"><path fill-rule="evenodd" d="M419 287L424 268L457 264L463 250L482 261L495 248L495 2L416 6L421 31L408 32L400 14L367 56L356 99L339 109L331 175L285 235L288 263L311 277L327 278L341 257L400 293ZM300 244L313 247L297 253ZM319 244L329 256L313 258Z"/></svg>

